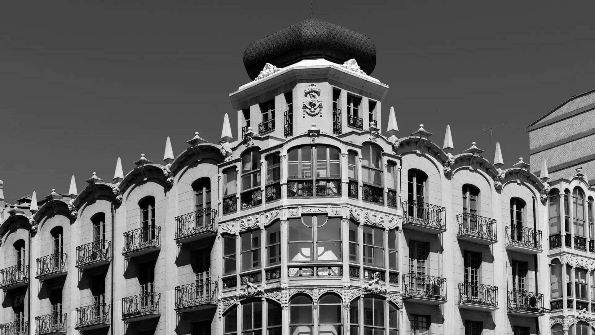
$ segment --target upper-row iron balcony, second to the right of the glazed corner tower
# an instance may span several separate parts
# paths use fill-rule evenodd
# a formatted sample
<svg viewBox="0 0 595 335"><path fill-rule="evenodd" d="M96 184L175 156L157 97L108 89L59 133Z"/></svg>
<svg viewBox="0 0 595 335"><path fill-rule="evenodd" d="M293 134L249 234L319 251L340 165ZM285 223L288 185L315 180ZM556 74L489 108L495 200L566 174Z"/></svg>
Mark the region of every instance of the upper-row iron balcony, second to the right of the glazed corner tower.
<svg viewBox="0 0 595 335"><path fill-rule="evenodd" d="M459 240L477 244L494 244L496 238L496 220L484 218L471 213L461 213L456 216L459 222L459 231L456 237Z"/></svg>

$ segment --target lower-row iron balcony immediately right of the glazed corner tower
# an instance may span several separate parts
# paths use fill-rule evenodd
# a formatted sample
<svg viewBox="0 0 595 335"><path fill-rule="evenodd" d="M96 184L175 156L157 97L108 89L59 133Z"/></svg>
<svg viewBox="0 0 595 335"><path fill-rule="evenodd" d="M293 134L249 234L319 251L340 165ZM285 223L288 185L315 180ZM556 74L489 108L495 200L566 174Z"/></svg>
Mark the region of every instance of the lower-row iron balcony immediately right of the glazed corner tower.
<svg viewBox="0 0 595 335"><path fill-rule="evenodd" d="M446 278L423 274L403 275L403 300L441 305L446 302Z"/></svg>

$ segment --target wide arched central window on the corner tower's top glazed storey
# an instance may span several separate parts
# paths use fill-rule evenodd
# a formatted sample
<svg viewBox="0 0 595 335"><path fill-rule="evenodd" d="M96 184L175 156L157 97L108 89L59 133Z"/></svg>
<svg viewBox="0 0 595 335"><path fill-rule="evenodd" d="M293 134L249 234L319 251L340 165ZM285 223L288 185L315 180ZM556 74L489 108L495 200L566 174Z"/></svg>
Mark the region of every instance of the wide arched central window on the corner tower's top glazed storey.
<svg viewBox="0 0 595 335"><path fill-rule="evenodd" d="M325 145L306 145L287 152L287 195L290 197L340 196L340 151ZM316 162L315 170L313 162ZM314 172L315 171L315 172ZM315 185L315 187L314 187Z"/></svg>

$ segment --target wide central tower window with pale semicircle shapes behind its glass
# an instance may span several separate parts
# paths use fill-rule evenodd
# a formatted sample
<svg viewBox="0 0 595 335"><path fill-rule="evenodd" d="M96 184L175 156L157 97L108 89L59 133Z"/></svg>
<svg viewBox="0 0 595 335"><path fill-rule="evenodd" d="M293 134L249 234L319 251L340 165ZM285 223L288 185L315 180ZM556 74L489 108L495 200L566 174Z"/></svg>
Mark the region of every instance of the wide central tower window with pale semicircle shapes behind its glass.
<svg viewBox="0 0 595 335"><path fill-rule="evenodd" d="M289 261L340 260L341 238L340 218L303 215L289 219Z"/></svg>

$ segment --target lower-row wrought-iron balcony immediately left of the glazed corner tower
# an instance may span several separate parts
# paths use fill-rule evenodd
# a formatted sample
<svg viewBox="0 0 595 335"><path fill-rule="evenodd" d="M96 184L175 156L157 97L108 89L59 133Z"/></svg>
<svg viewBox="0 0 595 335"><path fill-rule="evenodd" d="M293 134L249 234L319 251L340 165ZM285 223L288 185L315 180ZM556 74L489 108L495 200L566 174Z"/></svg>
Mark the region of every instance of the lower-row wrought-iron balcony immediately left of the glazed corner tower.
<svg viewBox="0 0 595 335"><path fill-rule="evenodd" d="M217 308L217 281L205 280L176 287L177 312Z"/></svg>

